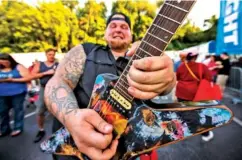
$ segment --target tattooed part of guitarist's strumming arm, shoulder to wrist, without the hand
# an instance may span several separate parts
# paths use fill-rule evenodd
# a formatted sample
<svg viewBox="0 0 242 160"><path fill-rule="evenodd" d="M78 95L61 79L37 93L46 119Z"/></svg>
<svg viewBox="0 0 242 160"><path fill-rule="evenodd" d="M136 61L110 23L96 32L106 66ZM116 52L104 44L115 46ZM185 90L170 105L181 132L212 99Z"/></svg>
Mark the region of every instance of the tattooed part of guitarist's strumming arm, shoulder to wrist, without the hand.
<svg viewBox="0 0 242 160"><path fill-rule="evenodd" d="M55 75L45 88L45 102L48 109L63 123L78 107L73 89L83 74L86 54L82 46L70 50L58 66Z"/></svg>

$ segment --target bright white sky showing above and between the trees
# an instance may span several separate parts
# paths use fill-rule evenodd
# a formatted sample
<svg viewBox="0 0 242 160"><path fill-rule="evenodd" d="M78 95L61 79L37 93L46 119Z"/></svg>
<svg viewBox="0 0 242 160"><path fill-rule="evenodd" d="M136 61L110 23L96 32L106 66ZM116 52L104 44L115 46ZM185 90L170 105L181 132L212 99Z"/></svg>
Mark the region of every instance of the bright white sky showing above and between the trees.
<svg viewBox="0 0 242 160"><path fill-rule="evenodd" d="M55 1L55 0L23 0L26 3L31 5L37 4L38 1ZM87 0L79 0L80 7L83 7ZM104 1L108 8L108 11L111 12L112 3L111 1L115 0L97 0L97 2ZM155 3L156 0L150 0L151 3ZM197 0L193 9L188 15L188 19L190 19L196 26L203 29L203 22L205 19L210 18L212 15L216 15L219 17L219 8L220 8L220 0Z"/></svg>

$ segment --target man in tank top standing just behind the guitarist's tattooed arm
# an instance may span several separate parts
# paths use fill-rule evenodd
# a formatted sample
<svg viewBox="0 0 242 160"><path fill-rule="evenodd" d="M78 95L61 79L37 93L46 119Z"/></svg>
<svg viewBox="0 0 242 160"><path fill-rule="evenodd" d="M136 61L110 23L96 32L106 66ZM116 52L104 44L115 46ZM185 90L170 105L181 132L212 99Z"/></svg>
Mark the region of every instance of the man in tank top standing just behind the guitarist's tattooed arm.
<svg viewBox="0 0 242 160"><path fill-rule="evenodd" d="M58 66L58 62L55 60L55 53L56 53L55 49L46 50L45 55L47 60L44 62L35 63L31 73L36 74L36 73L44 73L47 71L55 70L56 67ZM53 74L43 75L40 77L39 99L36 102L37 124L39 127L39 131L37 132L34 138L35 143L39 142L45 136L44 121L45 121L45 112L47 111L47 108L44 102L44 90L45 90L45 85L47 84L49 79L53 76Z"/></svg>

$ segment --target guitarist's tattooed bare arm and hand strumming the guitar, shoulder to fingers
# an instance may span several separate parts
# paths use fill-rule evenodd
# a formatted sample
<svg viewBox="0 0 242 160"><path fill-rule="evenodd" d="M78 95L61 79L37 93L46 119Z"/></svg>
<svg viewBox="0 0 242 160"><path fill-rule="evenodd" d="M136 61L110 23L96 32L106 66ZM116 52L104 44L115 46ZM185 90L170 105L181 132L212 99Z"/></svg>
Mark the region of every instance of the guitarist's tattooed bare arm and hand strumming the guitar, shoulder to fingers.
<svg viewBox="0 0 242 160"><path fill-rule="evenodd" d="M71 133L82 153L91 159L111 159L118 145L117 140L112 141L112 126L94 110L79 109L73 93L83 74L85 60L81 45L66 54L46 85L45 102L49 111Z"/></svg>

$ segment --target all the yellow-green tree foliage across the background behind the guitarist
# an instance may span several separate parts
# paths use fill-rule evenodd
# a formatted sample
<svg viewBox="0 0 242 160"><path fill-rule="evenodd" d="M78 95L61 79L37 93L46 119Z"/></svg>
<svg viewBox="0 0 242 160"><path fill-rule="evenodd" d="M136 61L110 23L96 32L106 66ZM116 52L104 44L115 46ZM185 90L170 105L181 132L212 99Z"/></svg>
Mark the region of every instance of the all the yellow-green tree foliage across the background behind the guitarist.
<svg viewBox="0 0 242 160"><path fill-rule="evenodd" d="M148 0L112 3L111 12L122 12L131 19L134 40L144 37L163 0L153 4ZM84 7L78 0L39 2L31 6L23 1L0 3L0 52L36 52L55 47L67 52L83 42L105 44L103 39L107 19L104 2L88 0ZM217 18L205 20L206 31L186 21L174 35L168 49L183 49L216 38Z"/></svg>

